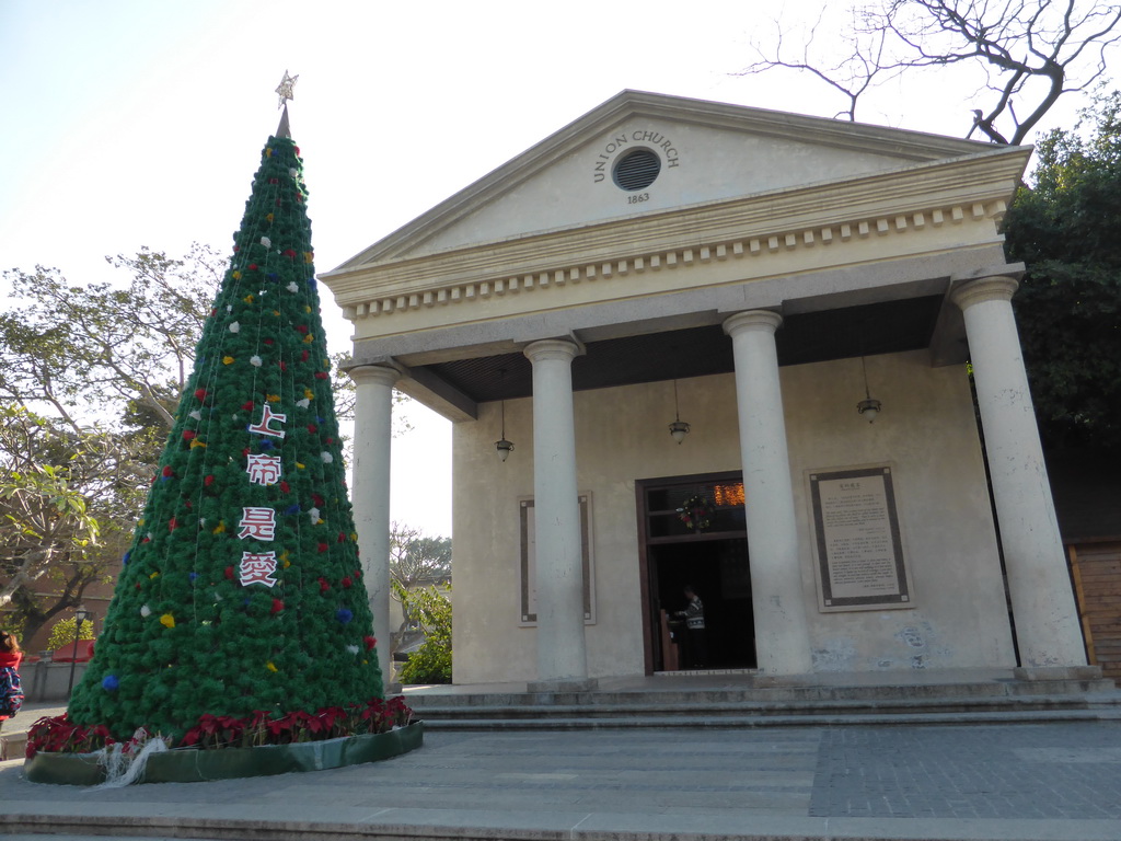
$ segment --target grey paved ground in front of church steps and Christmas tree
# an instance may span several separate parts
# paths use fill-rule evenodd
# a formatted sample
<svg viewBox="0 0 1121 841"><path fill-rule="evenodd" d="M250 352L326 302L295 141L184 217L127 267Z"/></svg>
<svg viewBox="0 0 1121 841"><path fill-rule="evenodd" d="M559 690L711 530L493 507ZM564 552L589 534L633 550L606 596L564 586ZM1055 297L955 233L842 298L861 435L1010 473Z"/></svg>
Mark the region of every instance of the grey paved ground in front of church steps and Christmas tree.
<svg viewBox="0 0 1121 841"><path fill-rule="evenodd" d="M118 789L34 785L20 765L0 764L0 834L38 815L146 838L1121 839L1118 722L436 731L374 765Z"/></svg>

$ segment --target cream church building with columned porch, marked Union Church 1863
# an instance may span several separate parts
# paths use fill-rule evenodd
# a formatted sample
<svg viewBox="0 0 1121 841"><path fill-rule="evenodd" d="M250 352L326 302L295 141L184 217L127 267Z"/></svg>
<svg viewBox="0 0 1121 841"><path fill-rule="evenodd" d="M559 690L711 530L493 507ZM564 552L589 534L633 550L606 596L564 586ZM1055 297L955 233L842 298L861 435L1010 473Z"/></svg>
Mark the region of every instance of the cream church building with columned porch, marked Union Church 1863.
<svg viewBox="0 0 1121 841"><path fill-rule="evenodd" d="M456 683L1084 665L999 232L1029 154L628 91L326 272L377 620L396 387L453 422Z"/></svg>

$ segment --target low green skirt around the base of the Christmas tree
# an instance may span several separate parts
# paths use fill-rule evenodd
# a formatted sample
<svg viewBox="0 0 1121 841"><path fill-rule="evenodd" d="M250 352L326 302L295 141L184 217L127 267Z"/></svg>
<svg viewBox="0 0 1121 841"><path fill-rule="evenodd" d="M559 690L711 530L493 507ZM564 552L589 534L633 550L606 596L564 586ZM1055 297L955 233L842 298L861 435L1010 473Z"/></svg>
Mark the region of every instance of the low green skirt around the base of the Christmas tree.
<svg viewBox="0 0 1121 841"><path fill-rule="evenodd" d="M197 750L177 748L148 757L139 783L204 783L237 777L267 777L291 771L324 770L346 765L376 763L416 750L424 743L420 721L388 733L349 736L296 745L263 745L259 748ZM92 786L105 780L98 754L50 754L39 751L24 765L31 783Z"/></svg>

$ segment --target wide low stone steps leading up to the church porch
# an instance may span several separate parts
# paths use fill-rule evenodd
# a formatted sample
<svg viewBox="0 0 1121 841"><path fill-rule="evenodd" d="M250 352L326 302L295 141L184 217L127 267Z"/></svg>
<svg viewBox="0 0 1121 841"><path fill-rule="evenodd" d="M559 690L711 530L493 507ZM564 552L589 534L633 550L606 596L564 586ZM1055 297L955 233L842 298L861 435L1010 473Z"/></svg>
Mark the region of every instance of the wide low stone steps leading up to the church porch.
<svg viewBox="0 0 1121 841"><path fill-rule="evenodd" d="M1025 680L1007 673L815 675L751 673L608 678L586 691L524 685L406 693L429 729L754 728L1121 720L1121 692L1095 669Z"/></svg>

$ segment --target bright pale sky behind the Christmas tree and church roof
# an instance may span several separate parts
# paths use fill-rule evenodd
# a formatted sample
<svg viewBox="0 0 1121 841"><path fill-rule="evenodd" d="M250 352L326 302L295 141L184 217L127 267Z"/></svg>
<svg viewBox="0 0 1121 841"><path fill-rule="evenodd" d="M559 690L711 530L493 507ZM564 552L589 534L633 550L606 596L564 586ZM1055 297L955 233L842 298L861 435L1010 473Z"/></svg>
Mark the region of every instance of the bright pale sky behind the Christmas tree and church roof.
<svg viewBox="0 0 1121 841"><path fill-rule="evenodd" d="M327 271L624 89L833 117L787 73L743 76L751 44L818 0L0 0L0 269L114 279L141 247L229 252L260 150L289 103ZM888 86L861 121L964 136L972 81ZM963 93L965 91L965 93ZM1074 98L1048 121L1073 121ZM0 288L0 295L3 289ZM324 289L332 352L349 323ZM452 535L451 425L411 404L391 517Z"/></svg>

